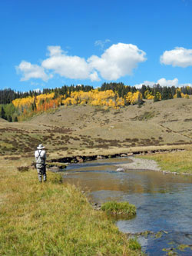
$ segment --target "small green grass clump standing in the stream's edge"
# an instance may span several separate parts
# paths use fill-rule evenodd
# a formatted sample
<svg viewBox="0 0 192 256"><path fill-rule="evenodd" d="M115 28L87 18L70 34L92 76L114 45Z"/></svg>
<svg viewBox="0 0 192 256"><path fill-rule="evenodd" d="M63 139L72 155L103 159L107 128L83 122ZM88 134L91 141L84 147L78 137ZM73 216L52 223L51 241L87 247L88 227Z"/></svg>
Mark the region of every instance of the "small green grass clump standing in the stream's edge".
<svg viewBox="0 0 192 256"><path fill-rule="evenodd" d="M102 204L101 210L106 211L107 214L126 215L127 217L131 217L136 214L136 207L134 204L129 204L127 201L108 201Z"/></svg>

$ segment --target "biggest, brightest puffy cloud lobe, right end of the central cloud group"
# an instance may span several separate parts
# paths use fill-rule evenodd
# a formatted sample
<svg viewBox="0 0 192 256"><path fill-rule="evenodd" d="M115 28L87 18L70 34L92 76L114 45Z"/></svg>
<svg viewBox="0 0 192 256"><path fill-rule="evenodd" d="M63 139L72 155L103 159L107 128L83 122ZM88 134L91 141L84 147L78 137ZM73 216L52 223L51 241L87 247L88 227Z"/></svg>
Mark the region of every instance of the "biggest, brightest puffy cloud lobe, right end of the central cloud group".
<svg viewBox="0 0 192 256"><path fill-rule="evenodd" d="M136 45L118 43L111 45L101 58L92 55L88 58L91 68L99 71L101 77L108 80L117 80L124 75L131 75L139 62L145 62L145 52Z"/></svg>

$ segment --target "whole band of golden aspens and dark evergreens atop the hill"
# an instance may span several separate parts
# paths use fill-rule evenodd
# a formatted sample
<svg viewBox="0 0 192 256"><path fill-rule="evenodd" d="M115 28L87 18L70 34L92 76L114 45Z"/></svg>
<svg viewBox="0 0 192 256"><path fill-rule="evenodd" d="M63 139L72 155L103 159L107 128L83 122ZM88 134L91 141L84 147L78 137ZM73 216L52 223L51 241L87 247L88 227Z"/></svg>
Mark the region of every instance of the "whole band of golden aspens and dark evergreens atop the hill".
<svg viewBox="0 0 192 256"><path fill-rule="evenodd" d="M91 85L64 85L61 88L45 88L43 91L0 90L0 118L8 121L23 120L40 111L58 108L60 105L91 104L111 108L125 105L142 105L144 99L161 101L171 98L189 98L190 86L177 88L161 85L142 85L137 89L124 83L106 83L94 89Z"/></svg>

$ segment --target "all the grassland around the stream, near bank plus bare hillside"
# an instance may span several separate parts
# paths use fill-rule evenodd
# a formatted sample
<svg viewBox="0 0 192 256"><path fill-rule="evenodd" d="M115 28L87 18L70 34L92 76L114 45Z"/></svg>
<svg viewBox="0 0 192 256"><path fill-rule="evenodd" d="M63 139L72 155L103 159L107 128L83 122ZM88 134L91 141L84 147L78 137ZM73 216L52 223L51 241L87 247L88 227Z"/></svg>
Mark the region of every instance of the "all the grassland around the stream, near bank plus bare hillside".
<svg viewBox="0 0 192 256"><path fill-rule="evenodd" d="M162 170L191 173L191 109L190 98L177 98L120 109L62 106L28 121L1 119L0 254L141 254L134 240L127 241L78 188L62 185L59 175L48 171L48 183L39 185L34 151L45 145L48 161L147 152L144 157Z"/></svg>

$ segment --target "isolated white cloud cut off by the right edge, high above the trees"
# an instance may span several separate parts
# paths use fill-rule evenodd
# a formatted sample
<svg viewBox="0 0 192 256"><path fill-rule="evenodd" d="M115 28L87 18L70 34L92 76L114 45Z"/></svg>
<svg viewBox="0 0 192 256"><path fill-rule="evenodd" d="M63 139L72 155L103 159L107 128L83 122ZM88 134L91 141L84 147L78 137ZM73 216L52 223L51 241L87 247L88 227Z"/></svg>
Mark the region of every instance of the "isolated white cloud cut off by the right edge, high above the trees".
<svg viewBox="0 0 192 256"><path fill-rule="evenodd" d="M192 49L176 47L174 50L165 51L160 57L161 64L186 68L192 65Z"/></svg>

